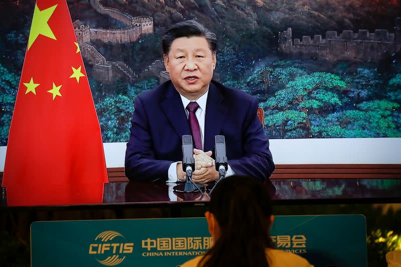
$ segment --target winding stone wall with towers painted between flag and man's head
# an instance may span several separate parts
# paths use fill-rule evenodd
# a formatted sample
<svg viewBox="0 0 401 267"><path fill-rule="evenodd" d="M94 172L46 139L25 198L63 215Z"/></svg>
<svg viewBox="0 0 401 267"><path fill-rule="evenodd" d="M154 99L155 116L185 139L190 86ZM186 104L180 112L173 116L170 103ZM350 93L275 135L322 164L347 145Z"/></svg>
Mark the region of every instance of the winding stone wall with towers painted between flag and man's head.
<svg viewBox="0 0 401 267"><path fill-rule="evenodd" d="M156 60L140 75L137 75L123 62L107 61L95 47L88 44L91 40L114 44L136 42L142 35L153 33L153 18L132 17L119 10L103 7L99 0L90 0L89 2L96 12L107 15L126 26L122 29L107 30L91 28L80 20L73 23L82 56L93 65L93 78L104 83L112 83L116 79L135 82L149 77L159 77L160 72L164 70L162 61Z"/></svg>

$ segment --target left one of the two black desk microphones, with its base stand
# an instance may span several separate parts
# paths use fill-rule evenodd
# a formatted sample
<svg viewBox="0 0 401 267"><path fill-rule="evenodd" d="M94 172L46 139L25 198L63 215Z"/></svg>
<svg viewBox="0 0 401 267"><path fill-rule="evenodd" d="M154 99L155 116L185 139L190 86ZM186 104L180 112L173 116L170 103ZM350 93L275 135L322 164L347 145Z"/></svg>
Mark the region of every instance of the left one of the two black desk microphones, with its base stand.
<svg viewBox="0 0 401 267"><path fill-rule="evenodd" d="M193 143L191 135L182 136L182 171L185 172L185 183L173 187L174 191L184 193L194 193L199 191L202 196L204 193L200 190L204 186L198 186L192 181L192 172L195 170L195 159L193 158Z"/></svg>

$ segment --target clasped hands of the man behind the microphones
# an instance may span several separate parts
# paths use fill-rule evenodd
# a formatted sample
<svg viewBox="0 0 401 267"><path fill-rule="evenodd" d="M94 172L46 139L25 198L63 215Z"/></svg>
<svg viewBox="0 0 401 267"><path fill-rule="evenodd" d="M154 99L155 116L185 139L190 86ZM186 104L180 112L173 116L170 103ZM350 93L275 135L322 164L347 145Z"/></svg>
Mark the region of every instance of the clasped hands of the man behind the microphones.
<svg viewBox="0 0 401 267"><path fill-rule="evenodd" d="M215 160L211 158L212 151L204 152L195 148L193 149L193 153L195 171L192 173L192 180L195 183L216 181L219 178L219 172L216 171ZM180 180L185 180L185 173L182 171L181 164L177 164L177 175Z"/></svg>

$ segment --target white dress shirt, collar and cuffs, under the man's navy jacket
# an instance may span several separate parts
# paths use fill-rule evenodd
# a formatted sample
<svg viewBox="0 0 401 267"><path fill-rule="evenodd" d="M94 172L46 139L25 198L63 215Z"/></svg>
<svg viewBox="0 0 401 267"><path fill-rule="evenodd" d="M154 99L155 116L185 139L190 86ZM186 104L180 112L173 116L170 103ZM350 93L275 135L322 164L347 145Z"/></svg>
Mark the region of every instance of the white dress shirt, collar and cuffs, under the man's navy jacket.
<svg viewBox="0 0 401 267"><path fill-rule="evenodd" d="M206 102L208 100L208 91L206 91L205 94L203 94L201 97L195 100L195 102L199 105L199 108L195 112L196 119L199 123L199 128L200 128L200 137L202 138L202 150L205 148L205 115L206 115ZM193 100L189 100L183 95L179 94L181 97L182 105L184 106L186 118L189 116L189 111L186 110L186 106L189 104L189 102ZM206 151L205 151L206 152ZM168 168L168 180L166 181L167 183L175 183L177 181L180 181L177 177L177 162L171 163L170 167ZM228 166L226 177L234 175L235 172L234 170Z"/></svg>

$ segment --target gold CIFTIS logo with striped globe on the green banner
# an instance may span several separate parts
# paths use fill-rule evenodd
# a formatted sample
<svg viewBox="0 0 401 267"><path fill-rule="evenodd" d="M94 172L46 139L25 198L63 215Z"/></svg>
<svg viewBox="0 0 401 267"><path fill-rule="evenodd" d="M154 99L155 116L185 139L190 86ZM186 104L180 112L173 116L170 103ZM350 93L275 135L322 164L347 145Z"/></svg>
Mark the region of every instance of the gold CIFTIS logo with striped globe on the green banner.
<svg viewBox="0 0 401 267"><path fill-rule="evenodd" d="M89 254L96 255L96 260L107 266L120 264L134 250L134 243L127 243L125 237L116 231L101 232L95 241L89 245Z"/></svg>

